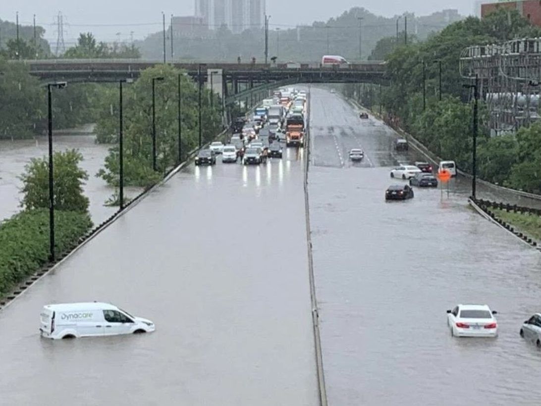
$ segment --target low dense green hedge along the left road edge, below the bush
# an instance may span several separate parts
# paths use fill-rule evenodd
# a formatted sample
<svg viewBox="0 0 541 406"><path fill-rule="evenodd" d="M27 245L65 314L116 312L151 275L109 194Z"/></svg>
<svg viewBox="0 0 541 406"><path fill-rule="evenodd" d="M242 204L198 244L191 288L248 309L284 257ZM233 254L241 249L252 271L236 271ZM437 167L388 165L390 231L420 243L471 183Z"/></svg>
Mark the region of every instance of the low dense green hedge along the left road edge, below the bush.
<svg viewBox="0 0 541 406"><path fill-rule="evenodd" d="M55 211L55 252L77 245L90 228L87 213ZM0 222L0 297L43 267L49 259L49 210L22 211Z"/></svg>

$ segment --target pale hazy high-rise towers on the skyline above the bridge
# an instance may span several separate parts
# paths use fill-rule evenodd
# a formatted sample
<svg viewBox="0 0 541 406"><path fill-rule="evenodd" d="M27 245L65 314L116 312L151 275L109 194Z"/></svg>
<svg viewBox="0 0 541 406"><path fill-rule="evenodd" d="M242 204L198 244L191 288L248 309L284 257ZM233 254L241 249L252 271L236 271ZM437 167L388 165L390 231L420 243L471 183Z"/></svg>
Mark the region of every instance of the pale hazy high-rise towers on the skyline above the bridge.
<svg viewBox="0 0 541 406"><path fill-rule="evenodd" d="M211 30L226 25L239 33L265 25L265 0L195 0L195 15Z"/></svg>

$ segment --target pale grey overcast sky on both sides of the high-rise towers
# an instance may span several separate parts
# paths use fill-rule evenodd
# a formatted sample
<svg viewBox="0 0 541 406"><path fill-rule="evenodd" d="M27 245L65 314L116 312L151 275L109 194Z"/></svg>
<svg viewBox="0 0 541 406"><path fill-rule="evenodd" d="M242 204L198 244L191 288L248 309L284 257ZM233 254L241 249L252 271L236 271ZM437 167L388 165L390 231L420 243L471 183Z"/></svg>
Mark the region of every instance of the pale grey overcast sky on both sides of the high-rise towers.
<svg viewBox="0 0 541 406"><path fill-rule="evenodd" d="M460 14L474 12L473 0L267 0L267 13L272 15L271 24L306 24L323 21L342 14L354 6L362 6L374 14L390 17L404 11L427 15L443 9L458 9ZM121 39L128 39L130 31L136 39L161 29L161 11L166 16L190 15L194 12L193 0L23 0L0 1L0 18L30 24L36 14L38 24L47 29L46 38L56 38L52 25L55 15L62 11L66 34L64 38L76 38L79 32L92 31L102 41L113 41L120 32ZM89 25L96 24L96 25ZM104 24L104 25L98 25Z"/></svg>

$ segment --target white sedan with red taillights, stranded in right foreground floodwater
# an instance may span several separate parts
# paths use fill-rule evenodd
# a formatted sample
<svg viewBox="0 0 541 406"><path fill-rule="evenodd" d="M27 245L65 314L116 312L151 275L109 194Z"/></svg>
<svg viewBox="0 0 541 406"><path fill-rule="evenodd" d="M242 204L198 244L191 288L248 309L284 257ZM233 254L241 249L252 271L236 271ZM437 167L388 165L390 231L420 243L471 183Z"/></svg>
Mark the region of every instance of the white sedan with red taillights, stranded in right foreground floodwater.
<svg viewBox="0 0 541 406"><path fill-rule="evenodd" d="M496 314L486 304L459 304L447 310L447 325L455 337L496 337Z"/></svg>

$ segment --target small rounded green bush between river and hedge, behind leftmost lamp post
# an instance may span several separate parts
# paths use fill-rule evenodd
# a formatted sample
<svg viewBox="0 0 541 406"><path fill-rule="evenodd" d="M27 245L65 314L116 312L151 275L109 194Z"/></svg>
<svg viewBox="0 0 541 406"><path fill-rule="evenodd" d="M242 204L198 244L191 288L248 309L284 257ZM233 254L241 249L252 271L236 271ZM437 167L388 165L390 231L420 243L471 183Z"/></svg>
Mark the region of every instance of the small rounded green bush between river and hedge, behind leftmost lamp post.
<svg viewBox="0 0 541 406"><path fill-rule="evenodd" d="M58 151L53 155L55 209L87 212L89 200L83 195L83 184L88 179L79 167L83 156L75 149ZM24 195L21 205L27 209L49 207L49 159L32 158L21 176Z"/></svg>

